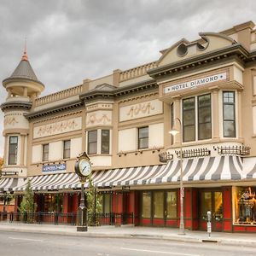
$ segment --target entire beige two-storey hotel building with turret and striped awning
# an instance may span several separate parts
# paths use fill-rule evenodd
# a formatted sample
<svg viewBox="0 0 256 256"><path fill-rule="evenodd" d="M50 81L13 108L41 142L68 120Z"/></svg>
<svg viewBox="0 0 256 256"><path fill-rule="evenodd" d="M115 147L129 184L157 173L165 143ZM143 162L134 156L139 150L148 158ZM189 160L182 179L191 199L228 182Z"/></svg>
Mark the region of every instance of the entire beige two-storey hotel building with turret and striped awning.
<svg viewBox="0 0 256 256"><path fill-rule="evenodd" d="M256 31L249 21L199 36L157 61L41 97L25 51L3 80L1 105L0 189L14 192L15 210L29 178L38 211L76 212L73 169L85 151L102 212L177 227L182 178L186 229L206 230L211 211L212 230L255 232Z"/></svg>

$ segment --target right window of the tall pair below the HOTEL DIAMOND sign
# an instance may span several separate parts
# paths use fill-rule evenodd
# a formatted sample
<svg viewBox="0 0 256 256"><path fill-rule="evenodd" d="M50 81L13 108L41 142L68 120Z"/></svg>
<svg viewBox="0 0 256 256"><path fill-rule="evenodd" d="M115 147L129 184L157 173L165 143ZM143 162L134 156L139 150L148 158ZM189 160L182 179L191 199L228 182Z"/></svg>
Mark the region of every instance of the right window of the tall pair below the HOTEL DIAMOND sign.
<svg viewBox="0 0 256 256"><path fill-rule="evenodd" d="M198 139L212 137L211 94L197 97L198 105Z"/></svg>

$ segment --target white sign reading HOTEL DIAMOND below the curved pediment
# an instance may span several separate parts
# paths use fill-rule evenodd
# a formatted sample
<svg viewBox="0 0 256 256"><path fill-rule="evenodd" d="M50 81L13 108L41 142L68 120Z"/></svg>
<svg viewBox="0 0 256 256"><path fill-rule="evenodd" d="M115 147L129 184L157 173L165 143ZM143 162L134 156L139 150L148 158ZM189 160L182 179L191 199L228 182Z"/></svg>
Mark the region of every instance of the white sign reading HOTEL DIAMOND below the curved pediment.
<svg viewBox="0 0 256 256"><path fill-rule="evenodd" d="M212 76L207 76L207 77L201 78L201 79L195 79L195 80L184 82L181 84L172 84L170 86L167 86L164 89L164 92L170 93L170 92L177 91L177 90L184 90L184 89L189 89L189 88L193 89L200 85L210 84L210 83L218 82L218 81L225 80L225 79L227 79L227 73L218 73L218 74L215 74Z"/></svg>

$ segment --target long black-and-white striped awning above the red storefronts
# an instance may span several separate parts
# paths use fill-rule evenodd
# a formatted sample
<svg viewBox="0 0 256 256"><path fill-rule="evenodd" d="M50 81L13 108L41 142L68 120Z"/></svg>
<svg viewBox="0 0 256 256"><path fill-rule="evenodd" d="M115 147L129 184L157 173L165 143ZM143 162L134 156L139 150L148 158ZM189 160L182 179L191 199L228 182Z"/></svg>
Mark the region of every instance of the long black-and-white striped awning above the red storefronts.
<svg viewBox="0 0 256 256"><path fill-rule="evenodd" d="M59 173L29 177L32 189L72 190L79 189L79 177L75 173ZM180 180L180 161L172 160L166 165L138 166L102 170L92 173L96 188L137 186L144 184L178 183ZM256 179L256 158L239 156L216 156L183 160L183 182L218 182ZM88 184L85 184L88 187ZM15 191L24 191L26 185L12 186Z"/></svg>

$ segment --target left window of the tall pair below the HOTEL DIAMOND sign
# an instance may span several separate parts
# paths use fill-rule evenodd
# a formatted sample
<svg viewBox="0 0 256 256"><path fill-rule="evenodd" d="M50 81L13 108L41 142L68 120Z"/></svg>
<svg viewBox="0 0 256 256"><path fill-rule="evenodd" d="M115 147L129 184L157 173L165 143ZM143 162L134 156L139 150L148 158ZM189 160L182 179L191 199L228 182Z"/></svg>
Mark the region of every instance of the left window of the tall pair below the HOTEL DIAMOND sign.
<svg viewBox="0 0 256 256"><path fill-rule="evenodd" d="M183 100L183 142L195 141L195 97Z"/></svg>

